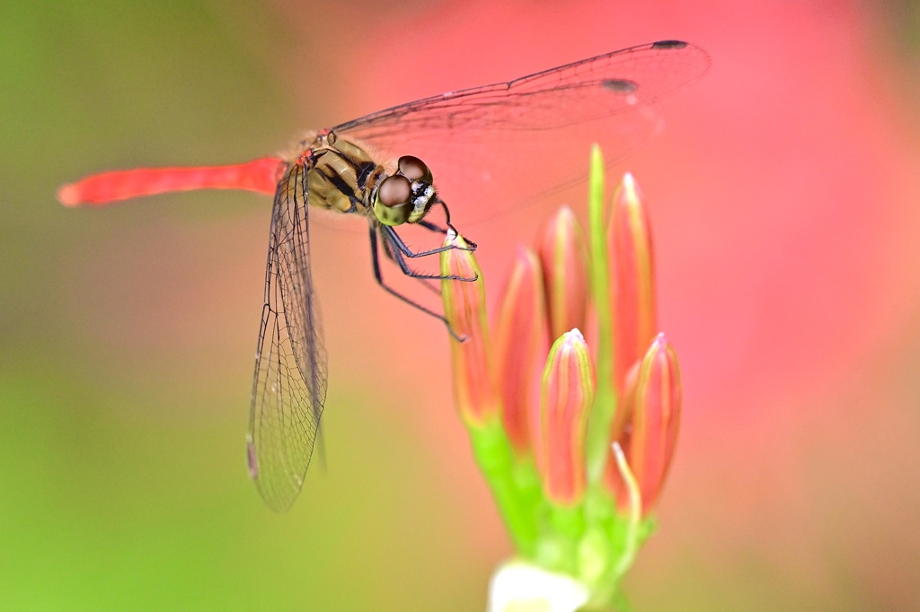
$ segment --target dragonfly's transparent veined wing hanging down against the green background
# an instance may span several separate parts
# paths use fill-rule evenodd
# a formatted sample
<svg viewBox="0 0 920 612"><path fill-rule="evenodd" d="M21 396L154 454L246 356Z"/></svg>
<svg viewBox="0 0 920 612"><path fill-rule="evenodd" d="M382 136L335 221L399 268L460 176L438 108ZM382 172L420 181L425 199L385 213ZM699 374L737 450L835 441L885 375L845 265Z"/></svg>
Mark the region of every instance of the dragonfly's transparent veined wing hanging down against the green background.
<svg viewBox="0 0 920 612"><path fill-rule="evenodd" d="M275 194L257 351L247 434L249 473L266 504L281 512L303 486L327 391L302 164L291 166Z"/></svg>

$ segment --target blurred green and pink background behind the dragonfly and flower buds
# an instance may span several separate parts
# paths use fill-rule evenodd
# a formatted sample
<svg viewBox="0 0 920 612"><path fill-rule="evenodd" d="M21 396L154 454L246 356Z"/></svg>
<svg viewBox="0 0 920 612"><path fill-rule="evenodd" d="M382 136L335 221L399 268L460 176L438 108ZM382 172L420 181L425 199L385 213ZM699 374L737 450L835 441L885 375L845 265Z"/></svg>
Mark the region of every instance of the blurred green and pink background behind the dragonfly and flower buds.
<svg viewBox="0 0 920 612"><path fill-rule="evenodd" d="M65 210L54 189L244 161L676 38L712 70L621 165L650 201L685 385L627 593L638 610L920 609L912 4L7 0L0 608L482 609L510 544L454 414L447 336L375 287L362 232L313 235L326 467L277 516L244 452L269 198ZM493 296L556 204L477 228Z"/></svg>

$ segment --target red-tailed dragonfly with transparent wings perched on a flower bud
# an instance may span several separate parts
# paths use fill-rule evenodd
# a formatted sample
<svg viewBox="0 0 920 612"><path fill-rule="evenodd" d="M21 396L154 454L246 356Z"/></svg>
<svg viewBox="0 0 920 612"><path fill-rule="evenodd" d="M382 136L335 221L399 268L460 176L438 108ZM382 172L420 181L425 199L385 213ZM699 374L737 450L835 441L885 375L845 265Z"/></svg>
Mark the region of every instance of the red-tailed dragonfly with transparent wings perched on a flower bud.
<svg viewBox="0 0 920 612"><path fill-rule="evenodd" d="M412 278L445 279L417 271L412 262L476 244L458 247L447 240L413 250L400 237L402 229L458 235L448 203L474 223L584 180L581 168L592 142L601 145L608 165L622 159L661 129L654 104L708 67L699 47L660 40L386 108L309 132L289 154L244 164L106 172L64 185L57 197L76 206L201 188L273 196L247 466L265 503L281 512L303 488L328 390L309 207L366 219L376 282L454 334L442 314L389 285L380 263L394 263ZM583 154L572 153L578 147ZM487 205L477 208L480 202ZM439 221L432 221L433 210L440 211Z"/></svg>

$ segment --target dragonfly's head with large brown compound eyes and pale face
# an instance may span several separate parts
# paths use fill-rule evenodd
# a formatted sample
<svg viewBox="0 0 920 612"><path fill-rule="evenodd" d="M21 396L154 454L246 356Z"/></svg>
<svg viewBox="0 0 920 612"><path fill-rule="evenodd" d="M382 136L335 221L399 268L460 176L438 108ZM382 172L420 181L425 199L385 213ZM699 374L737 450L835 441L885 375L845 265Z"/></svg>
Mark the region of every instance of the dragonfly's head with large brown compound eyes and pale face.
<svg viewBox="0 0 920 612"><path fill-rule="evenodd" d="M414 223L428 213L436 199L431 169L418 157L403 155L397 173L377 187L374 216L385 225Z"/></svg>

